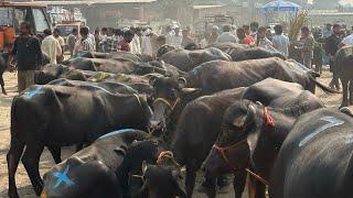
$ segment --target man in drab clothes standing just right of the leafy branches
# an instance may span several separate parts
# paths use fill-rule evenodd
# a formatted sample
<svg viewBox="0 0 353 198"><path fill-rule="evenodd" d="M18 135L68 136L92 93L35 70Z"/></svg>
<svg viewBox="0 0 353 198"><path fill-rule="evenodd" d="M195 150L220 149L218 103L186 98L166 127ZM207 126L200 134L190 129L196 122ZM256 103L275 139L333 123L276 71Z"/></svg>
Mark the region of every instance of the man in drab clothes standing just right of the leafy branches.
<svg viewBox="0 0 353 198"><path fill-rule="evenodd" d="M310 34L310 30L308 26L301 28L301 37L300 42L302 43L301 50L301 57L302 57L302 64L311 69L311 61L313 58L313 44L314 40L312 35Z"/></svg>

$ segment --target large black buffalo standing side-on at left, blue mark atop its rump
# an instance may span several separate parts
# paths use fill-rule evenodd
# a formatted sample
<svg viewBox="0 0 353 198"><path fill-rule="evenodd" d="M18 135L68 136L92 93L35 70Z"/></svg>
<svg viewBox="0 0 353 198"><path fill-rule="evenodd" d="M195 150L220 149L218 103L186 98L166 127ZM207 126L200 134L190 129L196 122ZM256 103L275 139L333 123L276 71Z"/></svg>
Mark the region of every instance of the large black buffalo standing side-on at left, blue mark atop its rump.
<svg viewBox="0 0 353 198"><path fill-rule="evenodd" d="M151 109L142 96L114 95L94 87L31 86L12 102L9 196L18 197L14 173L20 160L40 195L43 183L39 161L44 146L58 163L61 146L92 143L119 128L146 129L150 117Z"/></svg>

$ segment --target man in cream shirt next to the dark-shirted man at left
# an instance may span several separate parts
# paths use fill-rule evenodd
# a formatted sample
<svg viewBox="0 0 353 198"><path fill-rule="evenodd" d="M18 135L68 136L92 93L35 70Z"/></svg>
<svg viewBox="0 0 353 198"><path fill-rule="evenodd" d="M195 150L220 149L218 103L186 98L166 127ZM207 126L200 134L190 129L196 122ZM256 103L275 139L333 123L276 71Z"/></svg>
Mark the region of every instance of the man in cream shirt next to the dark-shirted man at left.
<svg viewBox="0 0 353 198"><path fill-rule="evenodd" d="M51 30L44 30L44 40L42 41L42 52L51 58L51 64L56 64L56 58L62 57L62 47L58 41L52 35Z"/></svg>

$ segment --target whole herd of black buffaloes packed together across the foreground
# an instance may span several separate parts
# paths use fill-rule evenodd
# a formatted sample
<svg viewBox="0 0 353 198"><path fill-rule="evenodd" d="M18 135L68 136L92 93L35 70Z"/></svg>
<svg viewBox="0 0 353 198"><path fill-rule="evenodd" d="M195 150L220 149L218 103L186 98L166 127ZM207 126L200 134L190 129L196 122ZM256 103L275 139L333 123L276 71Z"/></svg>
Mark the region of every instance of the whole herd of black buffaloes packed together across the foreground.
<svg viewBox="0 0 353 198"><path fill-rule="evenodd" d="M12 101L9 197L19 197L20 161L41 198L191 198L201 169L207 197L231 178L236 198L246 185L252 198L353 197L350 69L340 69L343 108L332 110L314 91L338 91L319 74L236 44L47 64ZM71 145L77 153L62 161ZM41 177L44 147L56 165Z"/></svg>

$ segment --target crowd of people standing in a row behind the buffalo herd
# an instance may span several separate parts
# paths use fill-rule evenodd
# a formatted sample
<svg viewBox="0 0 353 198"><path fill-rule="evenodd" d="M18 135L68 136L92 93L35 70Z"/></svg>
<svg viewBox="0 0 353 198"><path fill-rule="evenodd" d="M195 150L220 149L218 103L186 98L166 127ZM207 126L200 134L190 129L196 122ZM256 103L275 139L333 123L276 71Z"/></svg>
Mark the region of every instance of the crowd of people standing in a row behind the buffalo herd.
<svg viewBox="0 0 353 198"><path fill-rule="evenodd" d="M14 58L17 57L17 69L19 70L19 91L34 84L34 69L40 65L41 54L46 54L51 64L60 64L64 59L64 52L68 51L72 56L83 51L113 53L118 51L133 54L146 54L154 57L162 44L174 48L185 48L189 45L206 47L213 43L238 43L250 47L258 46L269 51L280 52L284 56L289 56L290 41L284 33L284 26L277 24L274 30L269 26L260 26L257 22L249 25L235 28L226 24L221 29L213 25L210 31L205 31L203 37L192 34L190 26L181 30L178 25L169 25L162 35L153 32L151 28L125 28L96 29L94 34L88 26L79 30L74 29L66 37L61 36L57 29L45 30L43 40L39 42L30 34L30 25L20 25L21 36L17 38L10 57L10 70L14 70ZM301 36L296 41L295 48L300 52L301 63L312 68L314 48L320 44L321 54L319 58L328 59L327 64L334 72L334 55L339 48L345 45L353 45L353 34L341 24L327 24L325 29L301 28ZM274 31L274 33L272 33ZM325 61L323 61L325 63ZM334 75L330 84L331 88L340 89L339 78Z"/></svg>

